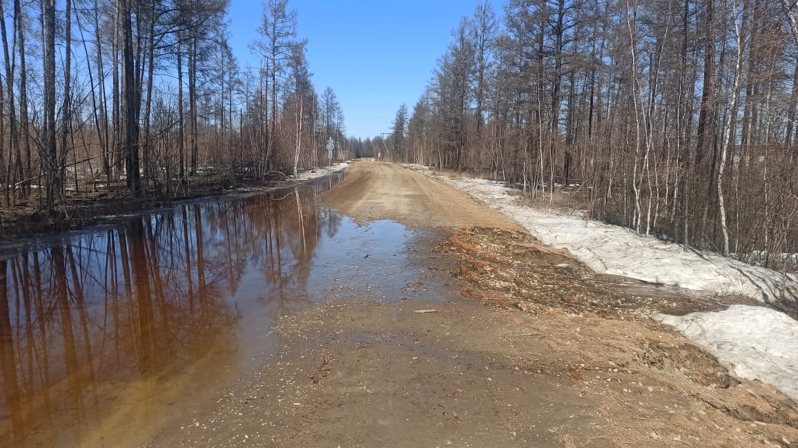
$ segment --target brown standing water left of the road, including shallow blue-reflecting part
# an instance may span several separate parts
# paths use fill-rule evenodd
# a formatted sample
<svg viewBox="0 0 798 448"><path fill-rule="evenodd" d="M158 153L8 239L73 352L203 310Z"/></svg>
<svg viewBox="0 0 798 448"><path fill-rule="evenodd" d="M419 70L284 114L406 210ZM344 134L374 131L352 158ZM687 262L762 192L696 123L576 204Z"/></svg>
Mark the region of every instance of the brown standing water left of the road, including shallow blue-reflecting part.
<svg viewBox="0 0 798 448"><path fill-rule="evenodd" d="M0 248L0 445L138 446L257 370L279 316L336 297L440 297L410 260L420 234L319 206L329 187Z"/></svg>

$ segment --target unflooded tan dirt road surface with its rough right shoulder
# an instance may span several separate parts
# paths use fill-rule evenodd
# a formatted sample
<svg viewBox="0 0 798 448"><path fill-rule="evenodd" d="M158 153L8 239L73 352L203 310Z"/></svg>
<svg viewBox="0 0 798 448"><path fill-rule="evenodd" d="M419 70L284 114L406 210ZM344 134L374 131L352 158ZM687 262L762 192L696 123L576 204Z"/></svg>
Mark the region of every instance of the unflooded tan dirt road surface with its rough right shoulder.
<svg viewBox="0 0 798 448"><path fill-rule="evenodd" d="M796 446L796 403L642 316L673 304L624 296L488 206L372 162L326 202L427 235L417 283L444 300L283 316L262 369L150 446Z"/></svg>

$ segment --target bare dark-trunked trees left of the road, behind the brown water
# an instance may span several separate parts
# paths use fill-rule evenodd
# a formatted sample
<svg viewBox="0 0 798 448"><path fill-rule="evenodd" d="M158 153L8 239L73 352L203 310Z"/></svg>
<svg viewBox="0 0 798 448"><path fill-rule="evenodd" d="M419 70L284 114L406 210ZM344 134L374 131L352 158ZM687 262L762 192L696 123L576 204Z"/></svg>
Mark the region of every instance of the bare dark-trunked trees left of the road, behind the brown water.
<svg viewBox="0 0 798 448"><path fill-rule="evenodd" d="M340 104L310 81L287 3L264 4L242 69L227 0L0 2L0 205L52 216L81 191L295 174L326 164L329 138L342 156Z"/></svg>

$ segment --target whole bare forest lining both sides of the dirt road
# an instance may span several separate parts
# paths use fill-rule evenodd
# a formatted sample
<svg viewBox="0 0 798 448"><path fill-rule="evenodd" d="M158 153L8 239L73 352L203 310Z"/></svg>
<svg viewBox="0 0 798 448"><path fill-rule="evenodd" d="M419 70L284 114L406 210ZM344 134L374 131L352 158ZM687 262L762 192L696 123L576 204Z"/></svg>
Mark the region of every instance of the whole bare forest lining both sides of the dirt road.
<svg viewBox="0 0 798 448"><path fill-rule="evenodd" d="M384 149L550 204L569 195L685 248L772 267L798 253L792 0L484 2L412 110L365 140L314 87L288 0L263 4L255 68L227 41L226 0L0 9L4 221L283 179L325 165L331 138L337 159Z"/></svg>

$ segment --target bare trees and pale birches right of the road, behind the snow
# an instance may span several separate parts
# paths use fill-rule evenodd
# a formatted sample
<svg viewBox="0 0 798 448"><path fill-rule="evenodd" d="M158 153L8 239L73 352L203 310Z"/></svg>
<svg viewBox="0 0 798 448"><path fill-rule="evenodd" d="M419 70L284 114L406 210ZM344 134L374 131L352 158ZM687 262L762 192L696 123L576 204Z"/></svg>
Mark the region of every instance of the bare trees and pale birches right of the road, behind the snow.
<svg viewBox="0 0 798 448"><path fill-rule="evenodd" d="M511 0L503 19L486 2L389 141L778 265L798 252L796 17L788 0Z"/></svg>

